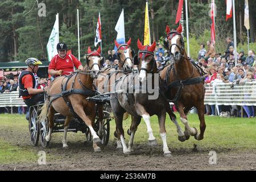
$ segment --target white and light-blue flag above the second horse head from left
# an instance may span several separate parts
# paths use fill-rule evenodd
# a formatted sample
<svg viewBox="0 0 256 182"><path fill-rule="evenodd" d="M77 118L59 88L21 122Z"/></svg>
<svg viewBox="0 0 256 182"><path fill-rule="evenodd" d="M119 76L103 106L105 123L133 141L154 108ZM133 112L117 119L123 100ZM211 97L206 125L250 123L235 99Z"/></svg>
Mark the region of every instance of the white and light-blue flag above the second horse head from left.
<svg viewBox="0 0 256 182"><path fill-rule="evenodd" d="M117 24L115 25L115 31L117 31L117 42L118 44L125 44L125 16L122 13L120 14ZM115 47L115 50L117 48Z"/></svg>

